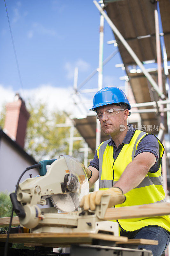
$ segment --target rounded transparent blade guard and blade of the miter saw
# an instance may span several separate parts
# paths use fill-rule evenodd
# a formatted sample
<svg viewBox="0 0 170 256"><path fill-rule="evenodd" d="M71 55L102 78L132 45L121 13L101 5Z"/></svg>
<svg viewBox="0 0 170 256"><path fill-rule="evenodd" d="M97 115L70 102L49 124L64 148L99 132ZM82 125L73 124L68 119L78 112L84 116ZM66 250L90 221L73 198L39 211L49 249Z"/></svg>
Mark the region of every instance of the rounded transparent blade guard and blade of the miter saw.
<svg viewBox="0 0 170 256"><path fill-rule="evenodd" d="M74 157L60 156L67 166L67 175L63 180L63 194L53 195L53 205L62 212L77 211L81 198L89 194L89 181L82 165Z"/></svg>

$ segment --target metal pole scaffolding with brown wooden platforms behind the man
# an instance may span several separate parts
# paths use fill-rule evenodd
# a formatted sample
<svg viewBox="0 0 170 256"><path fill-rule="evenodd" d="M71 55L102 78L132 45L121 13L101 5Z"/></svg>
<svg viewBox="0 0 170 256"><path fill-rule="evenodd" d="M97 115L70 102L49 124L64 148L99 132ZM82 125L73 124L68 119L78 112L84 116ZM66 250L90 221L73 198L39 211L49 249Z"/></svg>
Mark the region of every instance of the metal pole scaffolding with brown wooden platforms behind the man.
<svg viewBox="0 0 170 256"><path fill-rule="evenodd" d="M93 1L100 12L100 36L99 36L99 65L78 86L78 68L74 72L73 95L79 99L75 101L78 108L83 108L83 115L70 116L69 154L72 155L74 141L74 127L80 132L84 140L84 164L88 163L88 152L98 148L100 142L108 139L101 131L100 124L96 121L94 113L89 113L86 104L92 100L82 100L83 93L95 93L103 87L103 66L108 63L119 51L123 63L117 64L117 68L126 71L125 93L132 107L131 123L140 129L142 126L158 126L158 130L152 131L165 145L165 153L162 158L163 187L168 199L170 191L170 83L168 60L170 60L170 5L168 0L158 1L133 1L133 0L103 0L97 3ZM160 10L160 11L159 11ZM106 12L105 12L106 11ZM160 14L159 14L160 13ZM163 32L160 31L162 19ZM104 20L112 29L115 40L108 44L118 47L103 61L103 28ZM145 68L145 64L156 63L157 68ZM98 73L98 86L93 89L82 87ZM122 88L121 88L122 89ZM131 95L134 95L132 99ZM149 132L149 131L148 131ZM95 184L98 190L98 184ZM169 254L169 249L166 251Z"/></svg>

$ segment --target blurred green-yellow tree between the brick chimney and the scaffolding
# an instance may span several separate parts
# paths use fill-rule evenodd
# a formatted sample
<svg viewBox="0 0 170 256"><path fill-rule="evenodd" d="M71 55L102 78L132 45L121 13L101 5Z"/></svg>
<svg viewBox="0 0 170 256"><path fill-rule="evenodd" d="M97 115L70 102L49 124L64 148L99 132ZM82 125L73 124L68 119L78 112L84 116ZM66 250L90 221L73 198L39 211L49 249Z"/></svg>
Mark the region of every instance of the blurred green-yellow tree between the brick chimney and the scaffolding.
<svg viewBox="0 0 170 256"><path fill-rule="evenodd" d="M41 103L34 106L29 103L27 109L30 112L30 119L27 125L25 150L36 161L68 154L70 128L57 127L57 124L66 122L66 113L62 111L49 113L46 105ZM80 134L75 131L74 136L80 136ZM82 147L82 142L75 141L73 156L79 158L79 161L82 159L82 153L78 151L80 147Z"/></svg>

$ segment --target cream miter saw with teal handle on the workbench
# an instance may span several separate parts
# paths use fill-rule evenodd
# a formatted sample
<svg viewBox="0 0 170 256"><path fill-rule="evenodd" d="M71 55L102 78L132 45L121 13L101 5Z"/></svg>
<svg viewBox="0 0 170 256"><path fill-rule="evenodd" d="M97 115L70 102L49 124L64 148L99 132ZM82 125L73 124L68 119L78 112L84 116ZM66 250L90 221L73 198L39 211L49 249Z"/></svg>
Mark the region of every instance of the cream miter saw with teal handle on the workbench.
<svg viewBox="0 0 170 256"><path fill-rule="evenodd" d="M110 196L102 197L95 212L80 208L81 198L89 193L89 182L75 158L64 155L40 163L40 176L26 179L19 184L17 193L10 195L22 226L31 229L32 233L102 232L119 235L118 223L103 220ZM54 207L40 208L46 205L47 198Z"/></svg>

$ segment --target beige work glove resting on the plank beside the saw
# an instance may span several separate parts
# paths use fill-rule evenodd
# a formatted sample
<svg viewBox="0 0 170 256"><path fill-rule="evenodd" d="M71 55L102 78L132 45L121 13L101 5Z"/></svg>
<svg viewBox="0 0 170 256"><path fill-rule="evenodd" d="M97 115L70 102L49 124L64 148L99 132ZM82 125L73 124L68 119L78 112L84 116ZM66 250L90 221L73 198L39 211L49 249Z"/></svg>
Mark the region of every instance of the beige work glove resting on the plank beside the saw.
<svg viewBox="0 0 170 256"><path fill-rule="evenodd" d="M83 196L80 202L80 207L84 210L92 210L95 211L96 205L101 204L101 197L103 195L110 195L110 201L108 208L116 205L124 203L126 197L123 195L123 191L120 188L114 187L109 188L107 190L99 190L92 192L86 196Z"/></svg>

